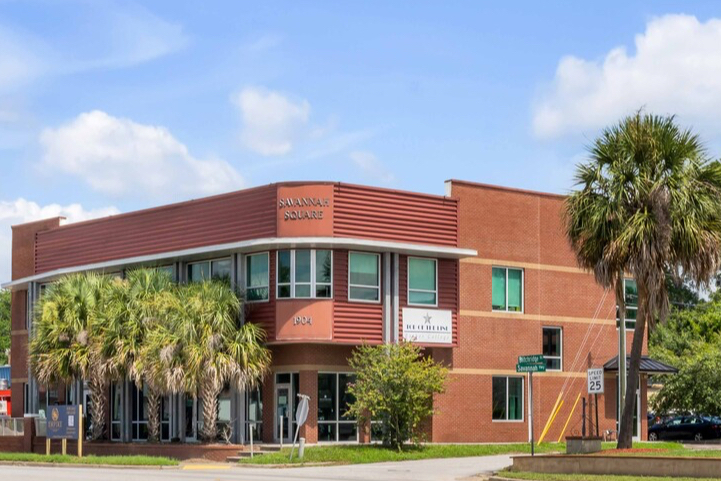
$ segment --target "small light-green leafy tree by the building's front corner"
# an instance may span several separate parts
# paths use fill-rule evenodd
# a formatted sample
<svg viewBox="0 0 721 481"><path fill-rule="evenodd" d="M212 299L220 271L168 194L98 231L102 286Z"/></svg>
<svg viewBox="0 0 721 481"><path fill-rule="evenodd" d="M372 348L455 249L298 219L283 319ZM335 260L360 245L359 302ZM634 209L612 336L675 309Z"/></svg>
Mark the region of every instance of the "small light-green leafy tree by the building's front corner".
<svg viewBox="0 0 721 481"><path fill-rule="evenodd" d="M355 397L347 416L362 425L380 421L383 443L398 451L403 443L424 439L424 422L434 413L433 395L445 390L448 370L409 342L363 345L348 361L356 381L349 386Z"/></svg>

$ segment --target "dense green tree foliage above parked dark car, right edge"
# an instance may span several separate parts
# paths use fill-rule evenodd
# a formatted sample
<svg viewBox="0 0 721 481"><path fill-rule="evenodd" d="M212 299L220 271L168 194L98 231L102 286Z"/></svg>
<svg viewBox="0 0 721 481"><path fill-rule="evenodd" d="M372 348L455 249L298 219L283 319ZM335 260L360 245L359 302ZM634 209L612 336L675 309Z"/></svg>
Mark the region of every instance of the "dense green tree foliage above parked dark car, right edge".
<svg viewBox="0 0 721 481"><path fill-rule="evenodd" d="M651 401L660 413L721 414L721 294L693 309L673 310L649 339L651 355L676 368Z"/></svg>

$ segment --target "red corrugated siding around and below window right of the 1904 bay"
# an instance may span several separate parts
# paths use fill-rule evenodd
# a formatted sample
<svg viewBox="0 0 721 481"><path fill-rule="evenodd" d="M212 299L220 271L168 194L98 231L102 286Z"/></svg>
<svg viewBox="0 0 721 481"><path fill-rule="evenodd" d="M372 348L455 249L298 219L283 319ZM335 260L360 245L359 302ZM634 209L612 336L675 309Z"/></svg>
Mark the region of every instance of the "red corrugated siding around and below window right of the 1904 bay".
<svg viewBox="0 0 721 481"><path fill-rule="evenodd" d="M385 266L381 266L381 271L384 268ZM333 340L355 344L381 344L382 304L348 301L348 251L333 252L333 276Z"/></svg>

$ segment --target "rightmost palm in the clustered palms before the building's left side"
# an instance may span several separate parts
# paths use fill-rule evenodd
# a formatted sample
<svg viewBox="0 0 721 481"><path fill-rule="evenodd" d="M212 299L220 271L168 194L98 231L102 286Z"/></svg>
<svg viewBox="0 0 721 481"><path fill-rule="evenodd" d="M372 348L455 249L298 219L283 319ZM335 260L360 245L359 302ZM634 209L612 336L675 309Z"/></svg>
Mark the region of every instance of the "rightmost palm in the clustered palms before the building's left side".
<svg viewBox="0 0 721 481"><path fill-rule="evenodd" d="M218 396L226 384L244 390L267 372L270 351L264 331L239 323L241 303L225 283L210 281L181 286L170 324L149 335L149 349L162 384L173 392L202 400L201 437L217 437Z"/></svg>

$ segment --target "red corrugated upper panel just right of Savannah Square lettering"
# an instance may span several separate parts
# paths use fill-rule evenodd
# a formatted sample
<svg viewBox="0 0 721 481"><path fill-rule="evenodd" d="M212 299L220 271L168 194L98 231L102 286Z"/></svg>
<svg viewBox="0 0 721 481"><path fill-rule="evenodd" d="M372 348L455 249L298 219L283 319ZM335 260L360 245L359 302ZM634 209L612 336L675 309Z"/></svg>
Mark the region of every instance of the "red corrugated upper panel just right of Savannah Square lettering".
<svg viewBox="0 0 721 481"><path fill-rule="evenodd" d="M458 246L458 201L448 197L337 184L333 234Z"/></svg>

